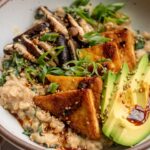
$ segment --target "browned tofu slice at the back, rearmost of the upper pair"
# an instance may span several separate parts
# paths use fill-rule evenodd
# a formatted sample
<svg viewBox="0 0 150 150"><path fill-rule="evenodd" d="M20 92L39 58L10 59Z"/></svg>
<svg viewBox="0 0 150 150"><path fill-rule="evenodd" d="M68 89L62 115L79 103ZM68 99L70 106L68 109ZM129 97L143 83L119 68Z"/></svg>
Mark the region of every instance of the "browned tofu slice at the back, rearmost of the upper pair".
<svg viewBox="0 0 150 150"><path fill-rule="evenodd" d="M117 44L122 62L127 62L129 68L133 69L136 64L133 33L127 28L118 28L105 32L103 35Z"/></svg>

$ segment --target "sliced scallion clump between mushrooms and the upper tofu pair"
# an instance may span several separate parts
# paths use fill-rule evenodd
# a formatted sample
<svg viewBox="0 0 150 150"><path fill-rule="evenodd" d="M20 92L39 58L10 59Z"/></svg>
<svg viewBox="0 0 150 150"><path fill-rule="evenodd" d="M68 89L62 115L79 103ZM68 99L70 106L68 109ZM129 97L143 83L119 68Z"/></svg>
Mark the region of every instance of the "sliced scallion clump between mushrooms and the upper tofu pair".
<svg viewBox="0 0 150 150"><path fill-rule="evenodd" d="M96 44L103 44L108 41L110 41L109 38L106 38L104 36L101 36L98 32L89 32L84 35L84 38L87 40L90 46L96 45Z"/></svg>

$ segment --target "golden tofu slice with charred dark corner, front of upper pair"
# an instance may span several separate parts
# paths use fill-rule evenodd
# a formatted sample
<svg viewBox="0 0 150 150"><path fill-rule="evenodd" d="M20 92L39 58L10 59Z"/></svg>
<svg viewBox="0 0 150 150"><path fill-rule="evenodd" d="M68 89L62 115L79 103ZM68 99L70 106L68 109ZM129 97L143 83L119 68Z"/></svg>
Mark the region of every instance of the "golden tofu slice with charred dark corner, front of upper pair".
<svg viewBox="0 0 150 150"><path fill-rule="evenodd" d="M119 55L119 49L114 42L108 42L102 45L92 46L90 48L84 48L79 51L79 57L89 57L92 61L98 61L102 58L110 59L107 67L114 72L118 72L121 69L122 63Z"/></svg>

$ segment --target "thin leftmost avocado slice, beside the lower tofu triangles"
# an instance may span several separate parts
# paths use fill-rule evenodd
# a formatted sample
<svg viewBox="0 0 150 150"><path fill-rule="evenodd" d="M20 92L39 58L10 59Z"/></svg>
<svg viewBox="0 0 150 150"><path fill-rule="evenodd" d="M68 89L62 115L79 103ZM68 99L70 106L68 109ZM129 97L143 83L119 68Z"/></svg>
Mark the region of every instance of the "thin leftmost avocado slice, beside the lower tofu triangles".
<svg viewBox="0 0 150 150"><path fill-rule="evenodd" d="M105 78L103 91L102 91L102 102L101 102L102 116L105 115L106 108L109 104L109 101L113 92L115 80L116 80L116 74L113 73L112 71L109 71Z"/></svg>

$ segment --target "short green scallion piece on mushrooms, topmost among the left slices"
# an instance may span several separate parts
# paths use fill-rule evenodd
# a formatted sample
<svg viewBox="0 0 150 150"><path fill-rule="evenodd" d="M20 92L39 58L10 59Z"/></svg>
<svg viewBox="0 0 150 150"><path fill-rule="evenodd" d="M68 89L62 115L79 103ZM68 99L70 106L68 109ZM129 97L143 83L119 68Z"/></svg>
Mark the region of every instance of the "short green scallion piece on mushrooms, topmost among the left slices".
<svg viewBox="0 0 150 150"><path fill-rule="evenodd" d="M44 35L41 36L40 40L44 42L45 41L55 42L58 37L59 37L58 33L45 33Z"/></svg>

